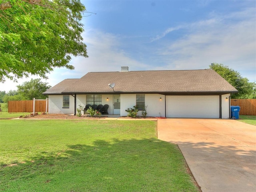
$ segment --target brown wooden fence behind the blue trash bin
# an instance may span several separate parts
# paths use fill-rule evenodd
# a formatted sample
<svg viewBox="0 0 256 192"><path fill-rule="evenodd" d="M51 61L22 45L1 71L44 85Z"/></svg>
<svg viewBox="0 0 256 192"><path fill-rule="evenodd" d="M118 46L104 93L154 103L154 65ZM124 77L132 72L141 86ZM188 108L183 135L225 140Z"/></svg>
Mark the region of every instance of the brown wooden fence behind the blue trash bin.
<svg viewBox="0 0 256 192"><path fill-rule="evenodd" d="M231 99L230 104L240 106L240 115L256 115L256 99Z"/></svg>

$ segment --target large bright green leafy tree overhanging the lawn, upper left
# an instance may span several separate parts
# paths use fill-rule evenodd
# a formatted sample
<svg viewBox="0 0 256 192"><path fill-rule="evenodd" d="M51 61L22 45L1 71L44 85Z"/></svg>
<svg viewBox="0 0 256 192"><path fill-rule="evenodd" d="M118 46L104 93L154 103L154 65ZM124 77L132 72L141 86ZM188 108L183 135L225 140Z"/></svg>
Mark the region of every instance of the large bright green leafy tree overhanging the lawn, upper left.
<svg viewBox="0 0 256 192"><path fill-rule="evenodd" d="M71 56L88 57L85 10L80 0L0 0L0 82L74 69Z"/></svg>

